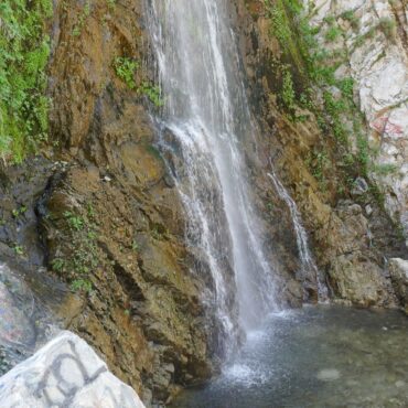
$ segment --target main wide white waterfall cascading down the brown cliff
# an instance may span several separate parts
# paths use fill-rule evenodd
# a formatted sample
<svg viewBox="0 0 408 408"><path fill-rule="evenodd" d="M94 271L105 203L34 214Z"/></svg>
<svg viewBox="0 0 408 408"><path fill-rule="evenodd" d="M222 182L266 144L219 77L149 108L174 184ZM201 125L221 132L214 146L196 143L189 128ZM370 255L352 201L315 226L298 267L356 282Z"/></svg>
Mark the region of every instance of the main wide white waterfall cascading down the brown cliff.
<svg viewBox="0 0 408 408"><path fill-rule="evenodd" d="M247 331L275 302L243 154L256 129L227 1L150 0L147 13L165 98L161 147L187 214L187 243L211 272L207 301L233 337L234 313Z"/></svg>

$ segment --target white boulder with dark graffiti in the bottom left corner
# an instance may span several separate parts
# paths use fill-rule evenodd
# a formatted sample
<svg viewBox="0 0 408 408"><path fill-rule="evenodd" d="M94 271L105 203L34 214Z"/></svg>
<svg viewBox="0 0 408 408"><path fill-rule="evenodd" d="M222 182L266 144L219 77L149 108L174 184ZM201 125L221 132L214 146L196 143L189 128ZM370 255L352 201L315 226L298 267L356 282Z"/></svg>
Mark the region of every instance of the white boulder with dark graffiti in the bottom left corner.
<svg viewBox="0 0 408 408"><path fill-rule="evenodd" d="M143 408L88 344L62 332L0 378L0 406Z"/></svg>

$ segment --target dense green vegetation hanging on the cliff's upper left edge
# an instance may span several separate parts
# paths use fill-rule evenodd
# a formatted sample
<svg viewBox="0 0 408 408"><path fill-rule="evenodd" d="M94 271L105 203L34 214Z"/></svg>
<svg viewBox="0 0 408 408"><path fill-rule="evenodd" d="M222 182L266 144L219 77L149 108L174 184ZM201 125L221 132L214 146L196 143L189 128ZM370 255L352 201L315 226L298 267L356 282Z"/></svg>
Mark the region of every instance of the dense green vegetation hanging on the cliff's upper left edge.
<svg viewBox="0 0 408 408"><path fill-rule="evenodd" d="M52 0L0 3L0 158L21 162L46 140L49 99L45 21Z"/></svg>

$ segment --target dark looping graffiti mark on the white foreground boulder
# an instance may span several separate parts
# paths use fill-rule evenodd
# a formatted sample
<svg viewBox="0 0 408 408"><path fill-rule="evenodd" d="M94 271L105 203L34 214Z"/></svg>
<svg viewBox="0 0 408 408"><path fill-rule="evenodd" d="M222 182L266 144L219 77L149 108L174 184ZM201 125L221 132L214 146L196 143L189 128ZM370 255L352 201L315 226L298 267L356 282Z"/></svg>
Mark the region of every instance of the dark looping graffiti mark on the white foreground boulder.
<svg viewBox="0 0 408 408"><path fill-rule="evenodd" d="M68 341L72 353L60 354L46 369L35 391L36 398L44 397L50 407L69 408L76 394L85 386L94 383L100 374L106 373L107 368L101 366L94 374L89 374L75 348L75 343ZM80 378L76 383L71 383L62 371L63 364L67 361L74 362L80 373ZM54 382L53 382L54 380ZM52 384L51 384L52 383ZM61 393L61 398L50 394L50 388L56 388Z"/></svg>

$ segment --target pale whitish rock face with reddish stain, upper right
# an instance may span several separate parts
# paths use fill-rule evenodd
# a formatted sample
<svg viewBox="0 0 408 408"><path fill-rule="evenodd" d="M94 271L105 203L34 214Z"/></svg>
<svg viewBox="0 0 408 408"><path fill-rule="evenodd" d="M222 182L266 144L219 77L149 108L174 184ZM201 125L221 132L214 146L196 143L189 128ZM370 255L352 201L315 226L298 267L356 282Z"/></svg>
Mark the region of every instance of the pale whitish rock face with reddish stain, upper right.
<svg viewBox="0 0 408 408"><path fill-rule="evenodd" d="M405 1L314 2L311 23L323 46L345 52L335 75L354 79L373 154L371 178L408 237L408 9ZM337 28L335 41L328 31Z"/></svg>

